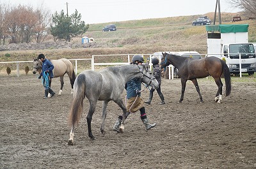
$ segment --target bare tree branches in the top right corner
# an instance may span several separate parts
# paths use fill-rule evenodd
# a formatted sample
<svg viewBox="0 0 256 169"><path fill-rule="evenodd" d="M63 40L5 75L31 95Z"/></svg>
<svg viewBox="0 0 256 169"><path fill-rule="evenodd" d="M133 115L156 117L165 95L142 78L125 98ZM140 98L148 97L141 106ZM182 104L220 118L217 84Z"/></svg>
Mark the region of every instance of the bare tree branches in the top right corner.
<svg viewBox="0 0 256 169"><path fill-rule="evenodd" d="M238 7L244 11L248 17L256 17L255 0L228 0L232 6Z"/></svg>

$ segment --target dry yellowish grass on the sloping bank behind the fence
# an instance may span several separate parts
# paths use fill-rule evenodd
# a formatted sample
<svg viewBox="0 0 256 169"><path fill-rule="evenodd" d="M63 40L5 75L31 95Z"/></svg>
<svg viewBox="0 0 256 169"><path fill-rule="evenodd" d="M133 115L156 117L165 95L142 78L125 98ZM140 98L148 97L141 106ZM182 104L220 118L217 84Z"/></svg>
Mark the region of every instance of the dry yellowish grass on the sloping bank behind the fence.
<svg viewBox="0 0 256 169"><path fill-rule="evenodd" d="M214 13L205 15L213 20ZM234 24L230 22L234 15L241 15L243 19L235 24L250 24L249 41L256 41L255 20L244 20L245 17L241 13L221 13L222 24ZM118 30L114 32L101 31L102 27L109 23L92 24L89 31L81 37L93 37L95 47L1 51L0 61L31 61L40 53L51 59L91 58L93 54L152 54L159 51L182 50L195 50L206 54L205 26L191 26L191 22L199 16L115 22L113 24L116 24ZM70 43L81 43L81 37L74 38ZM6 54L10 54L10 57L6 57Z"/></svg>

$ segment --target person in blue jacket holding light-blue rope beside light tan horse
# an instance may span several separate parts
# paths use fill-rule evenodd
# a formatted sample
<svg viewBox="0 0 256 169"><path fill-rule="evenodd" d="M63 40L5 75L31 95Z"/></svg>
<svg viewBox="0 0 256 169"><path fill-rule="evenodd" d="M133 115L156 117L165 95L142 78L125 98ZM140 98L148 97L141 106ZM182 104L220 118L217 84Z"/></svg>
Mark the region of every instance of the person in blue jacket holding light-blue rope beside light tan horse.
<svg viewBox="0 0 256 169"><path fill-rule="evenodd" d="M54 96L55 92L52 91L51 87L49 87L49 84L51 84L51 78L53 78L53 64L45 58L44 54L40 54L37 57L38 60L40 60L42 62L42 72L40 73L38 78L41 78L43 76L43 81L44 81L44 87L45 87L45 91L44 91L44 99L48 98L48 93L51 94L50 97ZM45 75L48 77L45 77Z"/></svg>

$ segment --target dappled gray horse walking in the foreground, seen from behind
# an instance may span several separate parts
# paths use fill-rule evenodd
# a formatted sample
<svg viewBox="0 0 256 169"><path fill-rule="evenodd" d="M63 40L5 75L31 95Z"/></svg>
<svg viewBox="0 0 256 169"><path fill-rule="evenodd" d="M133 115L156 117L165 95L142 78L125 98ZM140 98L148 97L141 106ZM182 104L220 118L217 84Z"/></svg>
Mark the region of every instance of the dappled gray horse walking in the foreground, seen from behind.
<svg viewBox="0 0 256 169"><path fill-rule="evenodd" d="M86 97L90 103L90 109L86 117L88 125L88 136L91 140L95 140L92 134L91 122L92 115L95 112L97 101L103 101L102 124L100 131L104 135L104 121L106 119L106 108L108 102L113 100L123 110L123 117L127 112L122 100L122 92L125 84L132 78L141 78L141 82L150 85L153 89L157 89L159 84L148 69L148 64L113 66L102 71L86 70L81 72L74 84L74 99L70 108L69 121L71 126L70 138L68 145L74 143L74 125L79 122L83 111L83 99ZM124 124L125 118L123 119Z"/></svg>

